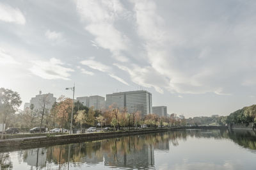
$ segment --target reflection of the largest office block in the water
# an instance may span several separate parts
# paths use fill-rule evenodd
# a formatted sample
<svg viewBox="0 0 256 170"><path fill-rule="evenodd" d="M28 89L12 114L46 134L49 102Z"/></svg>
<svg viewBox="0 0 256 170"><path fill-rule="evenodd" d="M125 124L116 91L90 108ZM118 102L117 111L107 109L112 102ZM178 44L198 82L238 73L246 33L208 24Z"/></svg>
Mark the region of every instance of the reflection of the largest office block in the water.
<svg viewBox="0 0 256 170"><path fill-rule="evenodd" d="M109 139L102 142L104 165L145 169L154 166L154 145L140 136Z"/></svg>

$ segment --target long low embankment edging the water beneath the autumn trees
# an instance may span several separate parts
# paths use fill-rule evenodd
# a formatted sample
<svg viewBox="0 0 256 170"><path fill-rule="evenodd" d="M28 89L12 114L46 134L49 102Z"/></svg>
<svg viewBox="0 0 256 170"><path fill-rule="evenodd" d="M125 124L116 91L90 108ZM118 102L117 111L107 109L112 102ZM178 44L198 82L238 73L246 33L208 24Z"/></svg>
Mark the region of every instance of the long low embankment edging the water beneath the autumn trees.
<svg viewBox="0 0 256 170"><path fill-rule="evenodd" d="M67 134L67 135L47 135L37 137L22 137L15 139L0 140L0 151L10 151L17 149L36 148L42 146L51 146L53 144L81 143L85 141L94 141L108 139L111 137L122 137L124 135L139 135L156 132L166 132L168 130L182 129L223 129L228 127L172 127L172 128L151 128L143 130L126 130L116 132L96 132L90 134Z"/></svg>

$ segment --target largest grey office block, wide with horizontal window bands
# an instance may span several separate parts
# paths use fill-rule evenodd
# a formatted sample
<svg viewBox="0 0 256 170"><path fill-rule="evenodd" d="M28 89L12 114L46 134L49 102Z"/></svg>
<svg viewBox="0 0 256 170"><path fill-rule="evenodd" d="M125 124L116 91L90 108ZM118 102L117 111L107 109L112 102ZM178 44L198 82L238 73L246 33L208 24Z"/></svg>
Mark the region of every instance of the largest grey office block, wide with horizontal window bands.
<svg viewBox="0 0 256 170"><path fill-rule="evenodd" d="M126 91L106 95L106 108L109 106L127 112L141 112L141 116L152 114L152 94L145 90Z"/></svg>

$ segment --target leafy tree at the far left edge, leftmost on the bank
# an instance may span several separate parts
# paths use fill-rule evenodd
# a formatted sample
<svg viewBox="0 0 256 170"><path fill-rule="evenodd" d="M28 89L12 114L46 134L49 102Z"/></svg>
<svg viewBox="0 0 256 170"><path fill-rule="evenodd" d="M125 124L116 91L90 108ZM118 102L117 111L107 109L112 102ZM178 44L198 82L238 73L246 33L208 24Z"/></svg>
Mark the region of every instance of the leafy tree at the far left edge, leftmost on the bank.
<svg viewBox="0 0 256 170"><path fill-rule="evenodd" d="M21 103L19 93L11 89L0 88L0 116L3 121L3 128L8 116L15 114ZM3 139L3 132L1 139Z"/></svg>

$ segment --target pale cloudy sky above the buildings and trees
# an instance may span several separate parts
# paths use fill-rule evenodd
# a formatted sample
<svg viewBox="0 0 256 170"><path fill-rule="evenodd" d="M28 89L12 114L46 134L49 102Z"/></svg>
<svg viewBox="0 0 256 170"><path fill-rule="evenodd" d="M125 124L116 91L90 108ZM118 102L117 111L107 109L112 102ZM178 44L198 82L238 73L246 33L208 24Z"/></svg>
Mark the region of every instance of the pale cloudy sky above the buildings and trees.
<svg viewBox="0 0 256 170"><path fill-rule="evenodd" d="M256 1L0 1L0 87L29 102L144 89L168 113L256 100ZM21 107L22 108L22 107Z"/></svg>

